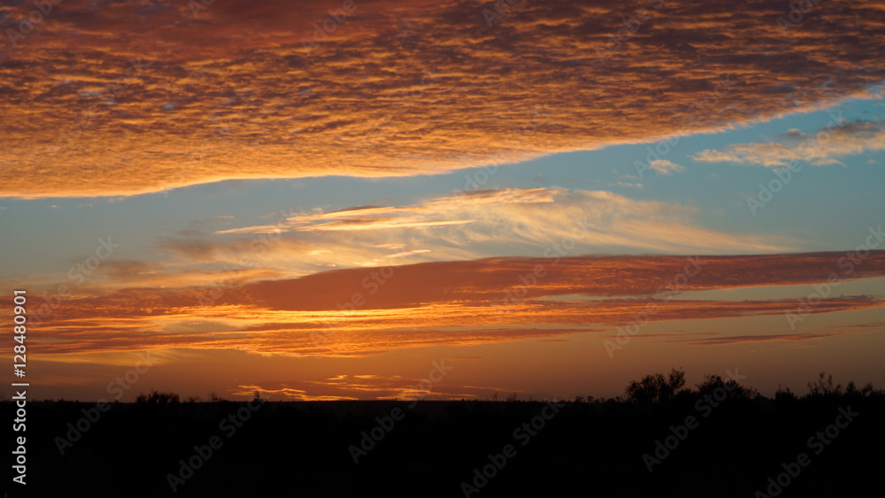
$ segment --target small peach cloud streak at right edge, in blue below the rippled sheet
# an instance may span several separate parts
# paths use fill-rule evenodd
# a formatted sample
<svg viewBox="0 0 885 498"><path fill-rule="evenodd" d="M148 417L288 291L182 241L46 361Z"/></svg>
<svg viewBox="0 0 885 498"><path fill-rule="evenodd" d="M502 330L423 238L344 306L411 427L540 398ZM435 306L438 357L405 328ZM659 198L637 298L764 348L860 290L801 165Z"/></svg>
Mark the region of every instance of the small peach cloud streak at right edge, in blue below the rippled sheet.
<svg viewBox="0 0 885 498"><path fill-rule="evenodd" d="M781 142L729 145L722 150L702 150L692 158L704 163L766 167L786 166L790 161L822 166L843 165L838 158L880 150L885 150L885 127L882 123L858 121L824 128L814 134L804 134L794 129L784 134Z"/></svg>

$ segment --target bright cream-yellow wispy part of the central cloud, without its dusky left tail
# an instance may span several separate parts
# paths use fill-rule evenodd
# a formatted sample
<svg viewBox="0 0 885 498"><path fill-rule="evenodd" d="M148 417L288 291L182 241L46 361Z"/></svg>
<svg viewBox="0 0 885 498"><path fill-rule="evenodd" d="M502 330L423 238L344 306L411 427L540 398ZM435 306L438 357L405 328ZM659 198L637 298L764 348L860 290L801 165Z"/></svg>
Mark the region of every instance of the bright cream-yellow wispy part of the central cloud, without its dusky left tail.
<svg viewBox="0 0 885 498"><path fill-rule="evenodd" d="M637 201L607 191L565 188L473 190L404 206L359 206L297 214L278 225L242 226L226 234L289 232L334 247L359 236L365 248L413 241L419 248L463 249L489 257L514 248L543 253L553 241L580 244L575 253L631 249L681 252L783 251L796 241L776 234L728 234L698 226L696 207ZM509 249L504 249L509 248Z"/></svg>

